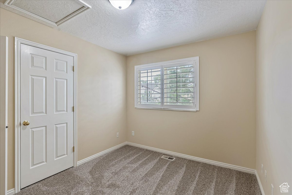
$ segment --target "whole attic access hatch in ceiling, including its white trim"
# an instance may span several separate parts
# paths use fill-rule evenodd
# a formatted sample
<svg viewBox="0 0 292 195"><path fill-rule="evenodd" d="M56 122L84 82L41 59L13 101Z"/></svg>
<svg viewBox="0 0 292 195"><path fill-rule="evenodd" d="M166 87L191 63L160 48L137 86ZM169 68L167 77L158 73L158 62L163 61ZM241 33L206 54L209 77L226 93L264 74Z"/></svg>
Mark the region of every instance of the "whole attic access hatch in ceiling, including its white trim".
<svg viewBox="0 0 292 195"><path fill-rule="evenodd" d="M44 23L59 26L91 8L81 0L7 0L4 5L18 10L16 13ZM19 12L20 11L20 12Z"/></svg>

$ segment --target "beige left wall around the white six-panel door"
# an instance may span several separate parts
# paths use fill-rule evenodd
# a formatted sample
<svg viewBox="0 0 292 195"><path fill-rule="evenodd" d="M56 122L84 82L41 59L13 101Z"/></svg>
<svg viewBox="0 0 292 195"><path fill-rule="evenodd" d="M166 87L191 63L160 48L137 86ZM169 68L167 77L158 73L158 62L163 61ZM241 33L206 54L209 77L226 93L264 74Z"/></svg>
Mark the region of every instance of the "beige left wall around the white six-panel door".
<svg viewBox="0 0 292 195"><path fill-rule="evenodd" d="M8 189L14 187L14 36L77 53L78 160L125 142L126 57L4 9L0 14L0 34L9 39Z"/></svg>

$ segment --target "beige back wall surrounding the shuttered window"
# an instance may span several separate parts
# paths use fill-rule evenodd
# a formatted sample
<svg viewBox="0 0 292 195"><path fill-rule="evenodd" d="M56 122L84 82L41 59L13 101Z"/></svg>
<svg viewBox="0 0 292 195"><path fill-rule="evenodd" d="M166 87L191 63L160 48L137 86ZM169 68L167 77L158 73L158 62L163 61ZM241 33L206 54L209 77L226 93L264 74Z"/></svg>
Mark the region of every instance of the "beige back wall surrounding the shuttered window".
<svg viewBox="0 0 292 195"><path fill-rule="evenodd" d="M200 111L134 108L135 65L195 56ZM255 169L256 32L127 57L127 141Z"/></svg>

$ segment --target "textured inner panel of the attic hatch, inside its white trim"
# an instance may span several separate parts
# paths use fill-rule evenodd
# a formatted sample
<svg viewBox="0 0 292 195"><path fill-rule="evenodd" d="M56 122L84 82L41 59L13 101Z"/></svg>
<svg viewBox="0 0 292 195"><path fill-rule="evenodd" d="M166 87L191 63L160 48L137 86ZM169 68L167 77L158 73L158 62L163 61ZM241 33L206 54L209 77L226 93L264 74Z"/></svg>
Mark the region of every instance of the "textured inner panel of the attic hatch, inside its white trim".
<svg viewBox="0 0 292 195"><path fill-rule="evenodd" d="M82 4L74 0L15 0L12 5L55 23L83 7Z"/></svg>

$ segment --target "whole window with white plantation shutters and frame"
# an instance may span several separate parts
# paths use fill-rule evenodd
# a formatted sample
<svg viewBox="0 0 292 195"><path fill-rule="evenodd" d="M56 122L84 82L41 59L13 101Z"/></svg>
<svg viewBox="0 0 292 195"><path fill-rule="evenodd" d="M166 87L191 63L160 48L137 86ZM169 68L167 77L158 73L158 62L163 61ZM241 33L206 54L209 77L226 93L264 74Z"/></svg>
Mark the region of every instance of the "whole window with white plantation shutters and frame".
<svg viewBox="0 0 292 195"><path fill-rule="evenodd" d="M199 110L199 57L135 66L135 108Z"/></svg>

